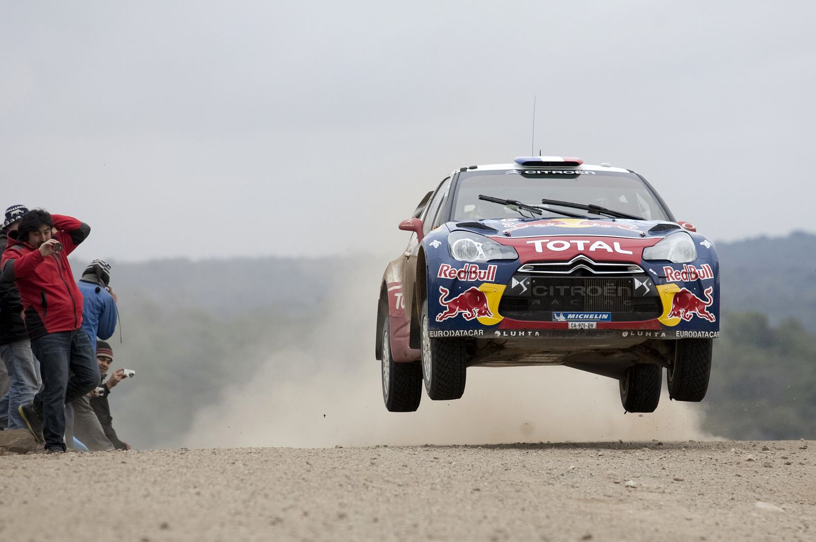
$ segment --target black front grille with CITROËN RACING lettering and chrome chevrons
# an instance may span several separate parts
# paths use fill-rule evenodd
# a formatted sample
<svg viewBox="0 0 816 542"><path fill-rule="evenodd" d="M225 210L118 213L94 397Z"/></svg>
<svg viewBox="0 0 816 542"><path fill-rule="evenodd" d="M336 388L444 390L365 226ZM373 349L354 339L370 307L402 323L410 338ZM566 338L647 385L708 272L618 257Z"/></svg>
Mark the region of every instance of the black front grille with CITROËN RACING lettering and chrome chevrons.
<svg viewBox="0 0 816 542"><path fill-rule="evenodd" d="M614 274L610 271L613 265L619 268ZM632 268L639 269L639 273ZM535 271L543 273L534 274ZM506 318L543 322L552 322L554 311L611 313L613 322L659 317L663 308L654 286L648 292L636 290L635 279L637 283L650 281L636 265L602 264L583 257L578 262L574 259L526 264L508 283L499 303L499 314ZM529 281L525 282L529 287L523 293L519 288L512 288L521 281Z"/></svg>

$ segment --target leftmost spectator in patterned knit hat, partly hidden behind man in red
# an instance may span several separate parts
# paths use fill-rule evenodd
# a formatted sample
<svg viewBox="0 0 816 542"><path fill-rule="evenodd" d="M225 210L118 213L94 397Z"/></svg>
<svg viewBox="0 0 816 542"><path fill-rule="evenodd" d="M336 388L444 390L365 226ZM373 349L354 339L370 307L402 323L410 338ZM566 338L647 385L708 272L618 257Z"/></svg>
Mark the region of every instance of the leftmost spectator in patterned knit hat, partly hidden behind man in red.
<svg viewBox="0 0 816 542"><path fill-rule="evenodd" d="M0 254L6 250L8 233L17 230L27 212L29 210L22 205L12 205L6 210L0 230ZM7 419L7 429L25 429L18 409L31 402L40 389L39 363L31 352L29 333L20 318L22 312L23 304L15 283L0 273L0 371L8 373L8 393L0 398L0 425Z"/></svg>

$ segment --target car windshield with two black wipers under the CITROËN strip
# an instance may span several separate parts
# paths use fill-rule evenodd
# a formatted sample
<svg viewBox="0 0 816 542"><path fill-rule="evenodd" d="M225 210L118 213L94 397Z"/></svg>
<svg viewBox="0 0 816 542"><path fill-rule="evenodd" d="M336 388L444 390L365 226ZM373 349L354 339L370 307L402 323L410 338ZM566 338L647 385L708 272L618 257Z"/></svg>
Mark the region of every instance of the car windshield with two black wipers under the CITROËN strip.
<svg viewBox="0 0 816 542"><path fill-rule="evenodd" d="M542 199L598 205L645 220L669 220L667 211L643 181L629 172L579 170L552 173L549 171L467 171L459 176L451 220L486 220L519 218L519 212L494 202L479 199L479 194L494 198L514 199L527 205L542 206ZM588 211L571 207L546 205L553 209L601 218ZM543 215L563 216L543 209Z"/></svg>

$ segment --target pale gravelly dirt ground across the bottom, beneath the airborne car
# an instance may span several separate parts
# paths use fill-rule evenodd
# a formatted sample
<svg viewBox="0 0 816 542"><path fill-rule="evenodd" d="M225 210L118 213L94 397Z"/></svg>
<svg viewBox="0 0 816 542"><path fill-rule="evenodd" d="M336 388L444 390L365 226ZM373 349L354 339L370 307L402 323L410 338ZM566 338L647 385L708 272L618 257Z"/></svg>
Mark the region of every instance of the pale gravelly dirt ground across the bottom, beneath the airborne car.
<svg viewBox="0 0 816 542"><path fill-rule="evenodd" d="M816 443L0 456L0 540L816 540Z"/></svg>

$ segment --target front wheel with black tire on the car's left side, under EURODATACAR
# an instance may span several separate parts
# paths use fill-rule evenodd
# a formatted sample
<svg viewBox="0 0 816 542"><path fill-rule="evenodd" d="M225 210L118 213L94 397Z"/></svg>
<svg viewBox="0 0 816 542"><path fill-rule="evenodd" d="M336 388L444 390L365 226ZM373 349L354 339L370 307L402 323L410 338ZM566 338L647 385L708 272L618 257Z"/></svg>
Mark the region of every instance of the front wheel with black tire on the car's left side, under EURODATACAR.
<svg viewBox="0 0 816 542"><path fill-rule="evenodd" d="M434 401L459 399L464 393L465 343L461 337L437 339L428 335L428 300L422 304L422 376L425 391Z"/></svg>

